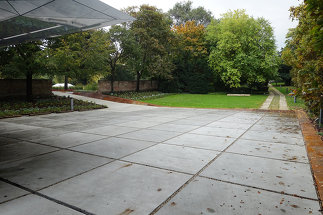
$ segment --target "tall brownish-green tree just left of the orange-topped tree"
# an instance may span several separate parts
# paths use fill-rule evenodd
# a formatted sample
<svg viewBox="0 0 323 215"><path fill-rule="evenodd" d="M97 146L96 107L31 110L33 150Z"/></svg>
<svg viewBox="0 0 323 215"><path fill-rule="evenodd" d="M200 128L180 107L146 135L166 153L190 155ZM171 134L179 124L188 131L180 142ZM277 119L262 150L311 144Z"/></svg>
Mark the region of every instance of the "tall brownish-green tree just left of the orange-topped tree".
<svg viewBox="0 0 323 215"><path fill-rule="evenodd" d="M157 8L142 5L126 10L136 20L130 25L129 41L124 45L127 64L135 72L136 91L142 76L169 78L172 63L170 49L170 21Z"/></svg>

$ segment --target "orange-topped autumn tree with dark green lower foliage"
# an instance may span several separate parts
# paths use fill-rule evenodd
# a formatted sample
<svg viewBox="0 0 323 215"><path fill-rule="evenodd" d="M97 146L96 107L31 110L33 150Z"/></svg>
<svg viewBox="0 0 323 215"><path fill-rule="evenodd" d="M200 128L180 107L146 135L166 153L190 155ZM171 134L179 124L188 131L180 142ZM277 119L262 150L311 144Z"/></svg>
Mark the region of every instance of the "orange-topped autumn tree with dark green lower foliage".
<svg viewBox="0 0 323 215"><path fill-rule="evenodd" d="M204 39L205 28L187 21L185 25L173 28L173 83L181 91L207 93L209 88L207 57L208 51Z"/></svg>

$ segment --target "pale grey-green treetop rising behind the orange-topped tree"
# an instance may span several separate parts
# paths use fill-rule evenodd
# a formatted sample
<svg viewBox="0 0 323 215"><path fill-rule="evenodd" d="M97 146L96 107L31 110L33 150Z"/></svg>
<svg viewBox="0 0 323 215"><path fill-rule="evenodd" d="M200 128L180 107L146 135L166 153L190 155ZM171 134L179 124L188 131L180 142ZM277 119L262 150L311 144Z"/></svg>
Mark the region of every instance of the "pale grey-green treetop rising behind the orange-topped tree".
<svg viewBox="0 0 323 215"><path fill-rule="evenodd" d="M175 25L184 25L187 21L195 21L197 25L207 26L212 20L212 12L204 7L193 9L192 2L178 2L168 11Z"/></svg>

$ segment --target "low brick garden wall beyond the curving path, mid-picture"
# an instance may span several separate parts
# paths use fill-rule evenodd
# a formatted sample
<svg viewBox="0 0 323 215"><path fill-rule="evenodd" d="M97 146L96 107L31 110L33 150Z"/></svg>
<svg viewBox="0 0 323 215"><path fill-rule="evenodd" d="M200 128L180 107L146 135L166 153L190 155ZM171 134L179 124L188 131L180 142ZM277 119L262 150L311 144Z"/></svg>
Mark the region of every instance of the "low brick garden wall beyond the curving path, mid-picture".
<svg viewBox="0 0 323 215"><path fill-rule="evenodd" d="M113 82L113 89L115 92L126 92L135 91L137 86L136 81L115 81ZM157 90L157 81L140 81L140 91L146 90ZM99 80L99 93L109 93L111 92L111 81L109 80Z"/></svg>

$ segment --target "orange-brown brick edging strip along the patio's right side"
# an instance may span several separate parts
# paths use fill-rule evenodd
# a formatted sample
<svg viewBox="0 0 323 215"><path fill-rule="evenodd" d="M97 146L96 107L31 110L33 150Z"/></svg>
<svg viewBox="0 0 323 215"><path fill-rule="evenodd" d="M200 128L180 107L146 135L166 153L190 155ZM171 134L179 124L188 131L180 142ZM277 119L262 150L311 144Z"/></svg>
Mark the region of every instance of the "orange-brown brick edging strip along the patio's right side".
<svg viewBox="0 0 323 215"><path fill-rule="evenodd" d="M320 199L321 211L323 200L323 141L317 134L312 122L303 110L295 111L301 125L307 155L311 164L311 170L318 197Z"/></svg>

